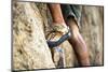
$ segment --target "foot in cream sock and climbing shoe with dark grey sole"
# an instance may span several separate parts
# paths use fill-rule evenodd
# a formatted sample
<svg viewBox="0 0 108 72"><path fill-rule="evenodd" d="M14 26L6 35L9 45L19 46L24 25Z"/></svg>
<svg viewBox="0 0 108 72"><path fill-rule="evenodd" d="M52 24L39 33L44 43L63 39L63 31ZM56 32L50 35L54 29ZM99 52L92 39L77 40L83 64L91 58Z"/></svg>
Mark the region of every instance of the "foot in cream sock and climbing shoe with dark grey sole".
<svg viewBox="0 0 108 72"><path fill-rule="evenodd" d="M46 37L46 42L50 47L55 47L62 44L70 37L69 28L65 25L54 24L53 31Z"/></svg>

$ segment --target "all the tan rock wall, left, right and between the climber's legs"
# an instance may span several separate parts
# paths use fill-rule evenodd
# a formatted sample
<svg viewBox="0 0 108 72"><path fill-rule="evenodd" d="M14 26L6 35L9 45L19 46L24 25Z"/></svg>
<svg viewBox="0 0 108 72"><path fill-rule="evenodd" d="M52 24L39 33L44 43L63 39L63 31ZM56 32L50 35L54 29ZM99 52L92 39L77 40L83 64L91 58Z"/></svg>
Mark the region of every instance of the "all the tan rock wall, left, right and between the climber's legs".
<svg viewBox="0 0 108 72"><path fill-rule="evenodd" d="M92 66L103 64L103 8L83 6L80 32L85 40ZM13 69L55 68L45 35L52 30L52 17L45 3L13 3ZM65 67L78 64L68 41L62 45Z"/></svg>

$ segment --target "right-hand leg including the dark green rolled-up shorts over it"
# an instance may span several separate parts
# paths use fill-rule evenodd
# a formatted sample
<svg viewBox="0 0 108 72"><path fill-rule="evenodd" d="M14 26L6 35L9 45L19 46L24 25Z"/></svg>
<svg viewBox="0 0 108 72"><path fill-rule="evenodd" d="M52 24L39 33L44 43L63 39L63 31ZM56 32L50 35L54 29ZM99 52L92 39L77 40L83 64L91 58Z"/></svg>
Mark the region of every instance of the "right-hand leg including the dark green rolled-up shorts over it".
<svg viewBox="0 0 108 72"><path fill-rule="evenodd" d="M79 20L81 17L82 6L62 4L62 11L65 21L71 30L72 35L70 37L69 42L77 54L80 66L90 66L87 48L78 28L80 27Z"/></svg>

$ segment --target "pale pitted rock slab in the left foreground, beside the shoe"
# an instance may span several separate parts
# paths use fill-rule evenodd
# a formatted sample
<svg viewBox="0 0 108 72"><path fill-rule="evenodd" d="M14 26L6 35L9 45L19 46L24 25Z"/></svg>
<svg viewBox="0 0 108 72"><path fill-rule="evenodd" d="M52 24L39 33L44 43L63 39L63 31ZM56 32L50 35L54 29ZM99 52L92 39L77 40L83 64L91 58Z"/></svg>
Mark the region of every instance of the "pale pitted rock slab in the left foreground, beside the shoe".
<svg viewBox="0 0 108 72"><path fill-rule="evenodd" d="M43 20L35 3L13 4L13 69L55 68L43 33Z"/></svg>

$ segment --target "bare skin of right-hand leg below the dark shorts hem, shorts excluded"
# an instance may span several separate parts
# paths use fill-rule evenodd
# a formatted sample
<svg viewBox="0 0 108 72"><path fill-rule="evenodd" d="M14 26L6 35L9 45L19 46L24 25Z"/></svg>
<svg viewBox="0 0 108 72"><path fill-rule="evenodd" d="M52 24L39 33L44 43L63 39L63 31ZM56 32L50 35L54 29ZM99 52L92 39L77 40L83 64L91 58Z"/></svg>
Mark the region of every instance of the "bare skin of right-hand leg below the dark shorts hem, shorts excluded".
<svg viewBox="0 0 108 72"><path fill-rule="evenodd" d="M77 23L73 20L72 17L70 17L67 20L67 25L70 27L72 33L72 37L70 37L69 42L73 46L80 66L90 66L86 44L79 32Z"/></svg>

